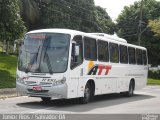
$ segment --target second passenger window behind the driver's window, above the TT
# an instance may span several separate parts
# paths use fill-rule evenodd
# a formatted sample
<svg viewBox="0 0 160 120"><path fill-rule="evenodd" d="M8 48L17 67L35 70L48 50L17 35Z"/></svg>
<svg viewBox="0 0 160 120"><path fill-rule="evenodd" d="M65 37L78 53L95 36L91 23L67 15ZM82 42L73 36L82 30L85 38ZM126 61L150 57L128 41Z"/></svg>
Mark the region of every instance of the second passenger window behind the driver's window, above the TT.
<svg viewBox="0 0 160 120"><path fill-rule="evenodd" d="M108 42L98 40L98 60L103 62L109 61Z"/></svg>

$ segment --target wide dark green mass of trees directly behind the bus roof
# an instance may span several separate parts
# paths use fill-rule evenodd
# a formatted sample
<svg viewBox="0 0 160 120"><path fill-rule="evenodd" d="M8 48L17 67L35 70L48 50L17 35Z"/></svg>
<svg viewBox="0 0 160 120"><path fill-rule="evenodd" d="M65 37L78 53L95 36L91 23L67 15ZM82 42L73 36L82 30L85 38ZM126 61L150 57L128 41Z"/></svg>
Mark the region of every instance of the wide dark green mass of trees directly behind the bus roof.
<svg viewBox="0 0 160 120"><path fill-rule="evenodd" d="M94 0L19 0L19 5L29 30L69 28L114 33L114 23Z"/></svg>

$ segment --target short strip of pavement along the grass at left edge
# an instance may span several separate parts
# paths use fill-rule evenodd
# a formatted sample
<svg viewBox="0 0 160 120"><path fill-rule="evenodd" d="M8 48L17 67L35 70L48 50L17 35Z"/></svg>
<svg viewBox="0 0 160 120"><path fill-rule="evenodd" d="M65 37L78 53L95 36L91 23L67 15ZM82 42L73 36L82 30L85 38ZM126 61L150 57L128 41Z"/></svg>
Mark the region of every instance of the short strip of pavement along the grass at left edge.
<svg viewBox="0 0 160 120"><path fill-rule="evenodd" d="M18 94L16 93L16 88L5 88L0 89L0 99L16 97Z"/></svg>

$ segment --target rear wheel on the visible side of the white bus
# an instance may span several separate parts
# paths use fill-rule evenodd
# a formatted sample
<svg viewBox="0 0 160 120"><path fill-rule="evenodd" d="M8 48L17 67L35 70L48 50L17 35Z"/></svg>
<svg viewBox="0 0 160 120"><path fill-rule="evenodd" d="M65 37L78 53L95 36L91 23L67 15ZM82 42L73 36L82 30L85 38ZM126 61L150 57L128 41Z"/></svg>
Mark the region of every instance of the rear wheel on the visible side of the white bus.
<svg viewBox="0 0 160 120"><path fill-rule="evenodd" d="M126 92L121 92L120 94L121 94L122 96L125 96L125 97L132 97L132 96L134 95L134 82L133 82L133 81L130 81L128 91L126 91Z"/></svg>

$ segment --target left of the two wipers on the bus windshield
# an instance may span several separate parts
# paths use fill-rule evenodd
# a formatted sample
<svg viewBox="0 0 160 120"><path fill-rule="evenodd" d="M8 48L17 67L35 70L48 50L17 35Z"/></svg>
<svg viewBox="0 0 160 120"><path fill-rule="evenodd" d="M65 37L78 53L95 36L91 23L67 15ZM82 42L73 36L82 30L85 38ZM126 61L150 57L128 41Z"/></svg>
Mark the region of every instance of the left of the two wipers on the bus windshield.
<svg viewBox="0 0 160 120"><path fill-rule="evenodd" d="M30 69L32 68L35 60L37 60L39 50L40 50L40 46L38 47L38 51L35 53L35 55L31 58L30 62L28 63L28 65L25 69L25 73L28 73L30 71Z"/></svg>

